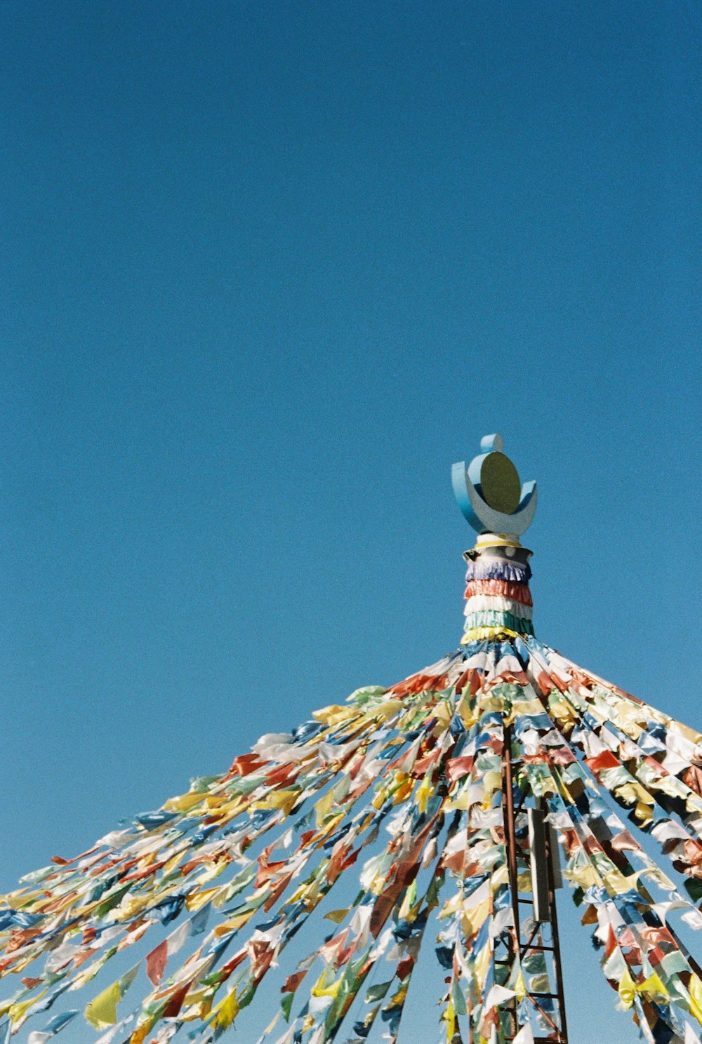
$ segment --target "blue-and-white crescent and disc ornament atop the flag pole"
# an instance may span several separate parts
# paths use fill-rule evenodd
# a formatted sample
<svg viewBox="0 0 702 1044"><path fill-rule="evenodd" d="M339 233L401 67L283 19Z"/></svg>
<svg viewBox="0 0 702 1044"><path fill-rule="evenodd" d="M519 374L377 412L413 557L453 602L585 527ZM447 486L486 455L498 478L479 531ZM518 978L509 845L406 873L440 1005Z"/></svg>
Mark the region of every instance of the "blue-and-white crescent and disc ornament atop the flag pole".
<svg viewBox="0 0 702 1044"><path fill-rule="evenodd" d="M464 517L477 533L494 532L518 539L536 512L536 482L520 484L517 469L502 453L502 436L484 435L482 452L451 469L453 494Z"/></svg>

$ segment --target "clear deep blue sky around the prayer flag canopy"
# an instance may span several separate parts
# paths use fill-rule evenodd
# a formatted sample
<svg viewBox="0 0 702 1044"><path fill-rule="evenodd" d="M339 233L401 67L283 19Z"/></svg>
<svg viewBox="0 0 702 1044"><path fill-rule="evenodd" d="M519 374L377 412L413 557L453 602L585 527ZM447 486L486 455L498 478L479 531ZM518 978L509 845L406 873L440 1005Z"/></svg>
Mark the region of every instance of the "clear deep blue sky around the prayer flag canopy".
<svg viewBox="0 0 702 1044"><path fill-rule="evenodd" d="M4 0L0 887L452 648L486 432L537 635L702 725L701 38Z"/></svg>

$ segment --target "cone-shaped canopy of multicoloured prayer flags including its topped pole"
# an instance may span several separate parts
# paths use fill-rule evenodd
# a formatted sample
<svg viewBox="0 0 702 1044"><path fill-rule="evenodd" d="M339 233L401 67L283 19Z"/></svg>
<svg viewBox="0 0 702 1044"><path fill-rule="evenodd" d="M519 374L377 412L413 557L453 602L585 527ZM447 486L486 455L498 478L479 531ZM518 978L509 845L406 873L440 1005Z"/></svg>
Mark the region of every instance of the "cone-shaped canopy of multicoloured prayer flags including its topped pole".
<svg viewBox="0 0 702 1044"><path fill-rule="evenodd" d="M429 951L447 1044L566 1042L561 878L644 1038L700 1040L672 922L702 927L702 737L537 640L536 488L483 450L453 472L478 531L461 647L26 875L0 1041L209 1044L252 1005L247 1040L394 1044Z"/></svg>

